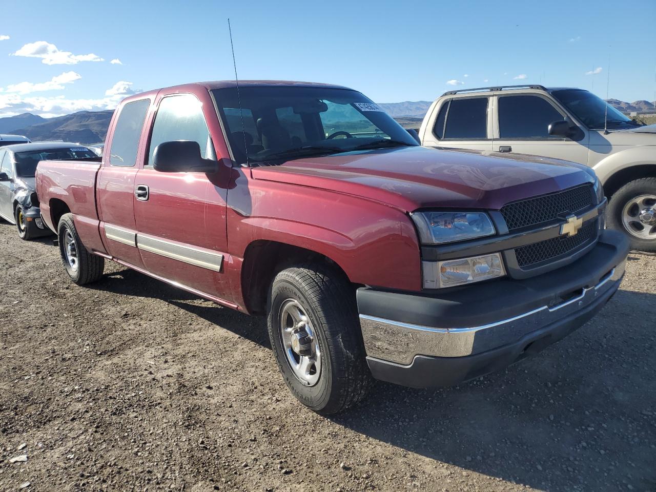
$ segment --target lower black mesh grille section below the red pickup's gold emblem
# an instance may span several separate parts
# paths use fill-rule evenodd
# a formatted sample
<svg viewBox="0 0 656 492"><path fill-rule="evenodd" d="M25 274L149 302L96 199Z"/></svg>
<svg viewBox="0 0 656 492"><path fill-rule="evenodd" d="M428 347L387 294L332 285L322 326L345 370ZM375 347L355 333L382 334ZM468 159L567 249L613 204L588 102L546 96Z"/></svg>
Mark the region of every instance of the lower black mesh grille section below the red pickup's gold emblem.
<svg viewBox="0 0 656 492"><path fill-rule="evenodd" d="M522 270L548 260L583 249L597 239L597 220L588 220L575 236L560 236L539 243L520 246L515 249L517 263Z"/></svg>

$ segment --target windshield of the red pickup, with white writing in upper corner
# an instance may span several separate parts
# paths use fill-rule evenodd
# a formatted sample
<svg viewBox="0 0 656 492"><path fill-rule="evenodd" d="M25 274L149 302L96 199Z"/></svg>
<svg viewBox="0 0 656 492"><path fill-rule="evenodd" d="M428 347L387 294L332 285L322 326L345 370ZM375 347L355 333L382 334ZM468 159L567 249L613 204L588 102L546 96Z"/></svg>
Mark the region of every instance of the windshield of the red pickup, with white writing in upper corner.
<svg viewBox="0 0 656 492"><path fill-rule="evenodd" d="M417 145L360 92L270 86L240 87L239 97L236 88L212 92L238 163Z"/></svg>

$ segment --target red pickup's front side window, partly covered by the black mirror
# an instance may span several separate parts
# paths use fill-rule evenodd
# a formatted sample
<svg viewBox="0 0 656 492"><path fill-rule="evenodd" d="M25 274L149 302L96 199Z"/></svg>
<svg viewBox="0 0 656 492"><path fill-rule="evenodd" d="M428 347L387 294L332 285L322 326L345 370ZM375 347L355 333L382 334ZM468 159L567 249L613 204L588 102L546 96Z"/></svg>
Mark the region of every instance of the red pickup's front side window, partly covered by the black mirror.
<svg viewBox="0 0 656 492"><path fill-rule="evenodd" d="M214 154L201 102L192 94L168 96L159 103L146 164L152 165L155 147L174 140L197 142L203 159Z"/></svg>

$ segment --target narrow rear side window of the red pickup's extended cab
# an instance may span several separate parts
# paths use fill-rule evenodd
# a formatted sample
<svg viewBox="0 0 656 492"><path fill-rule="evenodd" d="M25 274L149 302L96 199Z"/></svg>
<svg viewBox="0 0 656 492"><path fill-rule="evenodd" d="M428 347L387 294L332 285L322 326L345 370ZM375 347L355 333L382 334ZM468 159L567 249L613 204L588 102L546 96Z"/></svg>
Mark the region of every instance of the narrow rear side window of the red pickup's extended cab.
<svg viewBox="0 0 656 492"><path fill-rule="evenodd" d="M129 102L121 109L112 136L110 165L133 166L136 162L136 151L148 106L150 106L150 100L144 99Z"/></svg>

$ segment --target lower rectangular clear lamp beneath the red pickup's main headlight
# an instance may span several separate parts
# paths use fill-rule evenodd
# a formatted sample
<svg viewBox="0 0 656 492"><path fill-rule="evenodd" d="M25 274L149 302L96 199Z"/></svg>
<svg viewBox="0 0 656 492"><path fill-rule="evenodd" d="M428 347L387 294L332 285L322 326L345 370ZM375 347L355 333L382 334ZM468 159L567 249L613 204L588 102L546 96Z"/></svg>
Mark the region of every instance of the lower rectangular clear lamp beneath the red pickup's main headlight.
<svg viewBox="0 0 656 492"><path fill-rule="evenodd" d="M506 274L500 253L458 260L422 262L424 289L441 289L480 282Z"/></svg>

